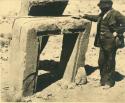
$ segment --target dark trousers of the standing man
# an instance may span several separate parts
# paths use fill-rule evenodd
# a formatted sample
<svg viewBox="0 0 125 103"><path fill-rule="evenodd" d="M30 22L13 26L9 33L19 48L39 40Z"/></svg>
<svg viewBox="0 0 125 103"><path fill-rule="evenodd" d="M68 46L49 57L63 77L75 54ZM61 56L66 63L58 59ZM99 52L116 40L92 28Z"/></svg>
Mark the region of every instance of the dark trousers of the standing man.
<svg viewBox="0 0 125 103"><path fill-rule="evenodd" d="M115 84L115 57L116 57L116 43L115 38L102 38L100 39L100 53L99 53L99 68L101 85L109 85L110 87Z"/></svg>

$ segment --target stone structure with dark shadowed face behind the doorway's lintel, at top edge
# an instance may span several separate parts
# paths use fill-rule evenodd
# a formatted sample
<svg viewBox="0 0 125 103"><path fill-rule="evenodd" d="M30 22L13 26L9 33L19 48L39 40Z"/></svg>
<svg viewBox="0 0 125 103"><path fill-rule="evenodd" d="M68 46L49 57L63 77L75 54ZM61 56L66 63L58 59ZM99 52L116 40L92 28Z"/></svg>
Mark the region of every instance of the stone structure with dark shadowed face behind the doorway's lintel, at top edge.
<svg viewBox="0 0 125 103"><path fill-rule="evenodd" d="M62 15L69 0L22 0L20 14L23 16Z"/></svg>

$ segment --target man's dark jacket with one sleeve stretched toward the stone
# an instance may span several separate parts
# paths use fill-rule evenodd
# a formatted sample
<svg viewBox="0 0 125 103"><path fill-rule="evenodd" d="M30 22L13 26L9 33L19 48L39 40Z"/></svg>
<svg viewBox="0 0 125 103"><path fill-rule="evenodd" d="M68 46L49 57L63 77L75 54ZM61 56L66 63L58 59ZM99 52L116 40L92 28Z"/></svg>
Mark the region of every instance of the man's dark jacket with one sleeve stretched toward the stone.
<svg viewBox="0 0 125 103"><path fill-rule="evenodd" d="M100 37L105 39L116 38L113 33L117 33L119 39L119 47L124 47L124 37L125 32L125 16L123 16L119 11L114 9L109 10L107 13L100 13L99 15L86 15L85 19L97 22L97 33L95 37L94 45L100 47Z"/></svg>

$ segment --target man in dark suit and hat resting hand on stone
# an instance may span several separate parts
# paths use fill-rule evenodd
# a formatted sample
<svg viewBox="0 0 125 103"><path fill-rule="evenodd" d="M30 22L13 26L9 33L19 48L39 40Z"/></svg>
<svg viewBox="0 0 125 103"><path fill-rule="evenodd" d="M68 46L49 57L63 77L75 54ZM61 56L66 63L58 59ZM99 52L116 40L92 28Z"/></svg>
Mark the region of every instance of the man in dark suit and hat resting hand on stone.
<svg viewBox="0 0 125 103"><path fill-rule="evenodd" d="M100 0L99 15L82 16L85 19L97 22L97 34L94 45L100 48L99 68L100 85L108 88L115 85L115 56L118 48L124 47L123 32L125 32L125 16L112 8L112 0ZM114 35L115 34L115 35Z"/></svg>

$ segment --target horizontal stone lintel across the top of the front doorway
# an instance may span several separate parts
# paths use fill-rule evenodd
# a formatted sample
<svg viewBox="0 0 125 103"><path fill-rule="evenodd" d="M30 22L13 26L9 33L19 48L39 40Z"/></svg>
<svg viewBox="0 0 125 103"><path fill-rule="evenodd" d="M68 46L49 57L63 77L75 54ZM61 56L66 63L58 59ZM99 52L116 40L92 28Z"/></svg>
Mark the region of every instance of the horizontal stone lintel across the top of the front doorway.
<svg viewBox="0 0 125 103"><path fill-rule="evenodd" d="M60 34L61 32L66 32L67 30L69 32L79 32L79 31L84 31L86 25L89 23L89 21L85 21L84 19L77 20L73 19L70 16L62 16L62 17L22 17L22 18L17 18L15 23L14 23L14 28L17 28L17 26L22 27L23 29L31 29L34 28L37 32L45 32L47 31L48 33L53 32L53 31L58 31L54 32L55 34ZM25 28L26 26L27 28ZM19 28L20 28L19 27ZM15 29L14 29L15 30ZM51 33L52 34L52 33ZM50 35L51 35L50 34Z"/></svg>

